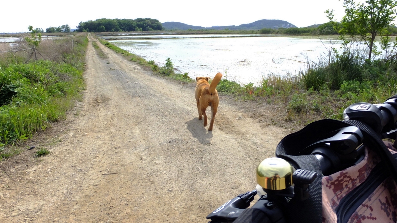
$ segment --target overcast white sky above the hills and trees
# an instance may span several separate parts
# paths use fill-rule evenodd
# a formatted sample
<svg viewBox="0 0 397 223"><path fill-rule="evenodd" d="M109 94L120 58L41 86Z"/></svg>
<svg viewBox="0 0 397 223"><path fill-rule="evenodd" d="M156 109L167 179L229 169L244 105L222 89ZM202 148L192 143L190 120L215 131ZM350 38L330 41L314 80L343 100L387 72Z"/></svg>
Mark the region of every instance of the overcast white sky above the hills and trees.
<svg viewBox="0 0 397 223"><path fill-rule="evenodd" d="M339 21L344 15L340 0L4 0L0 4L0 33L27 32L27 27L46 29L81 21L152 18L164 22L181 22L211 27L241 25L260 19L285 20L297 27L328 21L328 9Z"/></svg>

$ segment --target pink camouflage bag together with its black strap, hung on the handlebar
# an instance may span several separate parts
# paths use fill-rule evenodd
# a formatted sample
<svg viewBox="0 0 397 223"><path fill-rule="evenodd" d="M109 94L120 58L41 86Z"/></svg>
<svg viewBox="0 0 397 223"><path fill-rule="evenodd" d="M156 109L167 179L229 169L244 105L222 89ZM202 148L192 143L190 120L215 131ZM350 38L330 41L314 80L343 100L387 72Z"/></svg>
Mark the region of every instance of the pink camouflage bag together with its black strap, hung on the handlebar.
<svg viewBox="0 0 397 223"><path fill-rule="evenodd" d="M353 126L364 135L365 151L355 165L322 175L314 155L302 155L305 148L331 131ZM295 168L318 173L309 185L310 197L283 207L287 222L293 223L396 223L397 150L391 142L359 121L323 119L310 123L279 143L276 156L295 163Z"/></svg>

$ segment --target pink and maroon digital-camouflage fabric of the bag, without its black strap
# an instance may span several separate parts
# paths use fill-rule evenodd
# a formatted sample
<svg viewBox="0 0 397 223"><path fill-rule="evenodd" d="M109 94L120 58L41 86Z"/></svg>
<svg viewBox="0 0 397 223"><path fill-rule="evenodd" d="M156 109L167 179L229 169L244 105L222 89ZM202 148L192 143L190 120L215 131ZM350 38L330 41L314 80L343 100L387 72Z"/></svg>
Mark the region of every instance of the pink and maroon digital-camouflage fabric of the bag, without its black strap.
<svg viewBox="0 0 397 223"><path fill-rule="evenodd" d="M393 144L384 143L396 156ZM322 222L395 223L396 188L380 156L366 148L360 163L322 178Z"/></svg>

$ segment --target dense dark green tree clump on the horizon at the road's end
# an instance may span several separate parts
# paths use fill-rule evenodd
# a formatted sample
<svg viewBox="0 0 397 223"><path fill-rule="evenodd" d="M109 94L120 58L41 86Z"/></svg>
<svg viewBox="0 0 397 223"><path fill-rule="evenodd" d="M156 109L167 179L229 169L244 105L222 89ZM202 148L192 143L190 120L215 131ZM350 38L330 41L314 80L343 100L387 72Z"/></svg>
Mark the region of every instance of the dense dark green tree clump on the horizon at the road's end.
<svg viewBox="0 0 397 223"><path fill-rule="evenodd" d="M163 26L157 19L96 19L80 22L77 32L130 32L162 30Z"/></svg>

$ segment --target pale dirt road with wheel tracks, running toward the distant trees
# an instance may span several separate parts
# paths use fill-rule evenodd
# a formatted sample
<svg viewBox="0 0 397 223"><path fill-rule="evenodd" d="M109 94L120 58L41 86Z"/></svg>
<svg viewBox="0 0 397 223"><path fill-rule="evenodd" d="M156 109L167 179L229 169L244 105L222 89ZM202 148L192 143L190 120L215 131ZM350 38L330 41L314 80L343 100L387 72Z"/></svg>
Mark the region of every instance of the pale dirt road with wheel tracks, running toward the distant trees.
<svg viewBox="0 0 397 223"><path fill-rule="evenodd" d="M204 223L255 188L256 165L287 130L264 127L221 96L208 132L192 85L98 44L108 56L100 59L91 41L83 101L36 141L52 154L0 173L0 222Z"/></svg>

